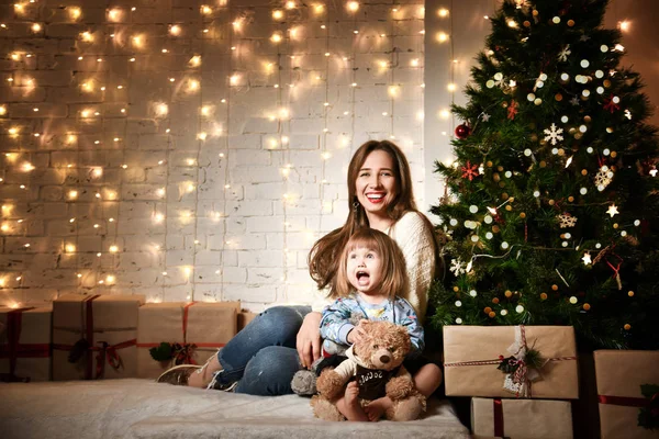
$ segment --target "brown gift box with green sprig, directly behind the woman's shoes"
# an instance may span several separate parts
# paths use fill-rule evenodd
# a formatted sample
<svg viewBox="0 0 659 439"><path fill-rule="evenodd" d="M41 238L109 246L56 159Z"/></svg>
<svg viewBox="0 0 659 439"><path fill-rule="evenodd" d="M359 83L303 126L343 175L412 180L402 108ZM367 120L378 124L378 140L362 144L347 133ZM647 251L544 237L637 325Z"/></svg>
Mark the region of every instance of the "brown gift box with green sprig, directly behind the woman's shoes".
<svg viewBox="0 0 659 439"><path fill-rule="evenodd" d="M148 303L139 308L137 375L155 379L174 364L203 364L236 335L239 302ZM156 351L155 359L152 349Z"/></svg>

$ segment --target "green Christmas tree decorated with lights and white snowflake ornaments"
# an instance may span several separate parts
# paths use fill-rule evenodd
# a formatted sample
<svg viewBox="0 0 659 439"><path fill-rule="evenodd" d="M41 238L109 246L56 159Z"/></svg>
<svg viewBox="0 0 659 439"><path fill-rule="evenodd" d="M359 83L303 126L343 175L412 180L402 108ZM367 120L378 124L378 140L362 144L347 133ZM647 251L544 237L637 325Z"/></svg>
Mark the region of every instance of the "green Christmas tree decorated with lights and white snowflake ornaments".
<svg viewBox="0 0 659 439"><path fill-rule="evenodd" d="M657 128L607 0L505 0L454 105L433 206L450 272L434 327L573 325L582 349L659 349Z"/></svg>

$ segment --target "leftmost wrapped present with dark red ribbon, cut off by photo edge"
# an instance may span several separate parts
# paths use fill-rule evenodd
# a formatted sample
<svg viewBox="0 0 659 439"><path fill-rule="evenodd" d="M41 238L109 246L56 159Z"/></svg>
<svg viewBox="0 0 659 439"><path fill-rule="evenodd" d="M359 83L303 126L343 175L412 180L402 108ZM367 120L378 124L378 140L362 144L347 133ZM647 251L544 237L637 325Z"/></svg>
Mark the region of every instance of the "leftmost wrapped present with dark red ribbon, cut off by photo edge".
<svg viewBox="0 0 659 439"><path fill-rule="evenodd" d="M0 307L0 381L51 380L52 306Z"/></svg>

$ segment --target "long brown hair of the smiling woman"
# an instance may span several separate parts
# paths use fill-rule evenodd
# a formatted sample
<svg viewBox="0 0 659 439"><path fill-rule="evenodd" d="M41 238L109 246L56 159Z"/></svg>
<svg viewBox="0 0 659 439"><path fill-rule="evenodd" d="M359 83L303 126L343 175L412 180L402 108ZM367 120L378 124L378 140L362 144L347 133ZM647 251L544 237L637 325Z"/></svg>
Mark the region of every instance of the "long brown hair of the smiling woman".
<svg viewBox="0 0 659 439"><path fill-rule="evenodd" d="M396 181L396 193L391 203L387 206L387 213L395 223L403 214L413 211L418 212L414 202L412 191L412 176L410 173L410 164L403 151L389 140L369 140L361 145L350 159L348 166L348 218L343 227L330 232L319 239L312 247L306 259L309 263L309 273L316 282L319 290L331 286L330 295L335 296L335 282L338 267L342 263L340 252L343 251L349 237L359 227L370 227L366 211L357 201L357 177L364 166L366 158L375 150L383 150L391 156L393 161L393 175ZM433 225L421 215L427 223L431 230ZM433 234L434 235L434 234ZM437 244L435 244L435 254L437 254ZM437 259L437 258L436 258ZM435 270L437 272L437 269Z"/></svg>

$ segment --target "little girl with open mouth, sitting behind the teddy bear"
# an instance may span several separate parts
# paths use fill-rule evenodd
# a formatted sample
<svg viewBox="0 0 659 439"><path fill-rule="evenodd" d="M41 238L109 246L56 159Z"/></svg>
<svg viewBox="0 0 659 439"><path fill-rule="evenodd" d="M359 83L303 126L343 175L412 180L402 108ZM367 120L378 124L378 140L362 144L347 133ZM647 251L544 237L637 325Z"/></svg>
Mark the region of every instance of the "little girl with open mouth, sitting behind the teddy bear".
<svg viewBox="0 0 659 439"><path fill-rule="evenodd" d="M348 240L336 278L338 299L323 309L321 336L328 344L353 345L362 336L356 316L367 320L387 320L404 326L410 334L416 358L424 348L423 327L410 303L396 296L407 288L405 259L398 245L382 232L364 227ZM382 414L377 404L362 409L358 401L357 382L348 383L345 395L337 402L348 420L376 420Z"/></svg>

